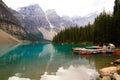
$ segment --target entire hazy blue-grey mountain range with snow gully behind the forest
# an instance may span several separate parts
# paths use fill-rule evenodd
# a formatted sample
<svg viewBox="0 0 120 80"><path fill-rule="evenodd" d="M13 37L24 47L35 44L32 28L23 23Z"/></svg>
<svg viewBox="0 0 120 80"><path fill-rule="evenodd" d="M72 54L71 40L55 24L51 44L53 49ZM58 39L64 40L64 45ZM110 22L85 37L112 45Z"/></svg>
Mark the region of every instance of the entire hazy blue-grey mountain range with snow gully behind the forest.
<svg viewBox="0 0 120 80"><path fill-rule="evenodd" d="M89 22L92 23L96 16L95 14L88 17L61 17L54 9L44 12L38 4L21 7L18 11L11 10L11 12L27 32L36 36L38 40L52 40L61 29L75 25L84 26ZM52 37L50 37L51 35Z"/></svg>

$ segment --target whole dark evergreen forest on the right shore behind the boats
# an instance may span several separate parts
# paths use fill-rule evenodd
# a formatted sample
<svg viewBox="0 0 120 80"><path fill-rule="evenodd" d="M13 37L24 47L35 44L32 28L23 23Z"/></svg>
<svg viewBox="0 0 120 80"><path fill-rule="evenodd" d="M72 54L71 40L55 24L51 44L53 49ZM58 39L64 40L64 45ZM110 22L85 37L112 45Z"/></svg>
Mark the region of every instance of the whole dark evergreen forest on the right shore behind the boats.
<svg viewBox="0 0 120 80"><path fill-rule="evenodd" d="M71 26L59 32L54 43L93 42L114 43L120 45L120 0L115 0L113 14L103 11L93 24L85 27Z"/></svg>

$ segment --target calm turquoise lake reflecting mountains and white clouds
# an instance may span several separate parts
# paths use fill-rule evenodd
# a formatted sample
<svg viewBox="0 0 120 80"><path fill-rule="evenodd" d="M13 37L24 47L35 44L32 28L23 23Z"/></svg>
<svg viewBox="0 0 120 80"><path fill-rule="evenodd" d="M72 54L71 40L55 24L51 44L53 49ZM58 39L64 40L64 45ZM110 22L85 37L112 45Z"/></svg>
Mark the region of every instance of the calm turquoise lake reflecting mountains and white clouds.
<svg viewBox="0 0 120 80"><path fill-rule="evenodd" d="M0 80L90 80L120 55L72 55L72 44L0 45Z"/></svg>

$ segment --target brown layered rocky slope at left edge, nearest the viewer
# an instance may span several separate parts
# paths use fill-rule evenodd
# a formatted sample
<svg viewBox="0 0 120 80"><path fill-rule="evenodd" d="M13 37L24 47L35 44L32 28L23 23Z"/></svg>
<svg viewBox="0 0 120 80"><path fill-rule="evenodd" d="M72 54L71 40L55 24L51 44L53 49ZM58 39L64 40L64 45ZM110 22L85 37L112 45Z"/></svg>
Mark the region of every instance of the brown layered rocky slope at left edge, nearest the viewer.
<svg viewBox="0 0 120 80"><path fill-rule="evenodd" d="M2 37L2 39L0 39L0 42L2 42L5 37L8 37L8 34L10 39L13 40L14 37L14 41L17 42L19 42L17 39L26 40L29 38L27 32L21 26L19 20L15 16L13 16L10 9L7 7L6 4L4 4L2 0L0 0L0 33L1 37L4 36ZM15 40L15 38L17 39ZM8 40L4 42L8 42Z"/></svg>

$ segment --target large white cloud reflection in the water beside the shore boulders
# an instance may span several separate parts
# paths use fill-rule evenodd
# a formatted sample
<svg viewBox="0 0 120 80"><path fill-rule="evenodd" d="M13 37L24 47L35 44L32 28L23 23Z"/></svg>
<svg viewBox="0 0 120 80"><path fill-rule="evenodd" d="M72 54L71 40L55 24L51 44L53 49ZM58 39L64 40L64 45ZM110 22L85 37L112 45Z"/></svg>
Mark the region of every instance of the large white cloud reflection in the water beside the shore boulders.
<svg viewBox="0 0 120 80"><path fill-rule="evenodd" d="M94 69L89 69L86 66L70 66L68 69L60 67L55 75L45 73L40 80L91 80L98 76L99 74Z"/></svg>

